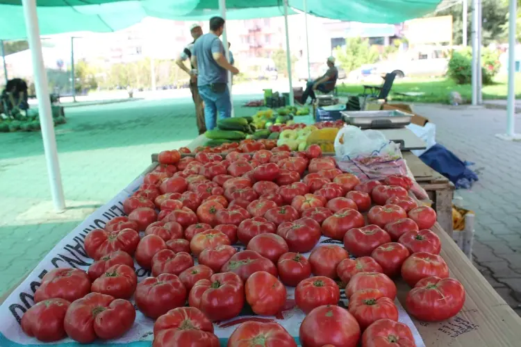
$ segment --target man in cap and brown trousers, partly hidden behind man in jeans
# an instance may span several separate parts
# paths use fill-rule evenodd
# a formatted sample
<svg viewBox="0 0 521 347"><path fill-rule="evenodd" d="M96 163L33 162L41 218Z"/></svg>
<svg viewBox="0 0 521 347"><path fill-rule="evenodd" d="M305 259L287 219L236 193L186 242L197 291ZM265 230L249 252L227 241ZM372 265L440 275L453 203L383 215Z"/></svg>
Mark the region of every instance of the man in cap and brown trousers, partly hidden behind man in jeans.
<svg viewBox="0 0 521 347"><path fill-rule="evenodd" d="M190 75L190 92L192 92L192 99L195 103L197 128L199 129L199 135L201 135L206 131L206 124L204 122L204 102L199 95L199 90L197 90L197 70L191 64L189 69L185 65L185 60L190 60L190 58L192 58L192 49L194 47L195 40L203 35L203 29L199 24L193 24L190 27L190 35L192 35L194 40L185 46L185 49L183 49L179 57L176 59L176 64L188 75Z"/></svg>

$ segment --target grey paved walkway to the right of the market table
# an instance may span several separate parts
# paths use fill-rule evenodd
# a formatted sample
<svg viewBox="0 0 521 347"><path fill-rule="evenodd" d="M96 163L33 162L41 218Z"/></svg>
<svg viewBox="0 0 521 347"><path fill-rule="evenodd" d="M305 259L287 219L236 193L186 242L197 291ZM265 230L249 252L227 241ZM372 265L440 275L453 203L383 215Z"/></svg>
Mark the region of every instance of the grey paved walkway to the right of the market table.
<svg viewBox="0 0 521 347"><path fill-rule="evenodd" d="M476 212L474 264L521 315L521 143L495 137L506 129L506 111L439 105L414 110L436 124L438 143L476 163L479 182L456 191ZM521 132L520 115L516 124Z"/></svg>

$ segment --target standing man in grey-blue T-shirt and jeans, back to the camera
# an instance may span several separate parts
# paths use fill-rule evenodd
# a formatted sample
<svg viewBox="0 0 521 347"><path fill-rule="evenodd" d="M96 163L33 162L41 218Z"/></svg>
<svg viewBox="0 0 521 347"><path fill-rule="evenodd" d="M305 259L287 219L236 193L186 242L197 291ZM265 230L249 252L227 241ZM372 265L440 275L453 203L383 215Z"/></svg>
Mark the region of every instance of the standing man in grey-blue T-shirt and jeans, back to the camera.
<svg viewBox="0 0 521 347"><path fill-rule="evenodd" d="M224 19L210 19L210 33L199 37L194 44L190 61L197 69L197 87L204 100L204 119L206 129L212 130L219 119L231 117L230 91L228 90L228 73L238 74L224 53L219 39L224 31Z"/></svg>

